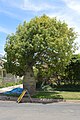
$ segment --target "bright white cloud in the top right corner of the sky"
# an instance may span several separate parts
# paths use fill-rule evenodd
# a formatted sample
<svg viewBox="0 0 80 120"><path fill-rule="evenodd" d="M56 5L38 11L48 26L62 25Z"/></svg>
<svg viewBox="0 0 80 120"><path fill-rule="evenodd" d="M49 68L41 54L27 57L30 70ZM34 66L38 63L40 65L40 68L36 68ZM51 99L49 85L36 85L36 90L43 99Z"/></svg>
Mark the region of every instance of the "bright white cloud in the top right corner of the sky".
<svg viewBox="0 0 80 120"><path fill-rule="evenodd" d="M72 10L80 14L80 0L62 0Z"/></svg>

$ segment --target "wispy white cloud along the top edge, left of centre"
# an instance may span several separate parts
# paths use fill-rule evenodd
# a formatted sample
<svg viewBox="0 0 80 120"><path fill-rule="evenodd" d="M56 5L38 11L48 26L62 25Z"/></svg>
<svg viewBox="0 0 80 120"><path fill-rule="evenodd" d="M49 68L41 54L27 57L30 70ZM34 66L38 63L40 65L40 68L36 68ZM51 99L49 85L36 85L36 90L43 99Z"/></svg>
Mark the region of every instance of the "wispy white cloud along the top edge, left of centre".
<svg viewBox="0 0 80 120"><path fill-rule="evenodd" d="M43 11L48 9L54 9L54 6L49 2L36 1L36 0L1 0L3 4L9 7L18 8L28 11Z"/></svg>

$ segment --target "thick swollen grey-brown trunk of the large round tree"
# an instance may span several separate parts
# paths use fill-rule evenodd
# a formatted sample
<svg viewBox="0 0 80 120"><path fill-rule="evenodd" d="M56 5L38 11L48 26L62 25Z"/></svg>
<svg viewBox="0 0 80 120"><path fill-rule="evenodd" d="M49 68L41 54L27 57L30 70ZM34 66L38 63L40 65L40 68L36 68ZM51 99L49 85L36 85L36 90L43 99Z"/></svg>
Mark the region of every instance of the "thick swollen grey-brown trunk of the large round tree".
<svg viewBox="0 0 80 120"><path fill-rule="evenodd" d="M30 67L24 75L23 88L27 89L30 94L34 94L36 91L36 81L34 79L33 69Z"/></svg>

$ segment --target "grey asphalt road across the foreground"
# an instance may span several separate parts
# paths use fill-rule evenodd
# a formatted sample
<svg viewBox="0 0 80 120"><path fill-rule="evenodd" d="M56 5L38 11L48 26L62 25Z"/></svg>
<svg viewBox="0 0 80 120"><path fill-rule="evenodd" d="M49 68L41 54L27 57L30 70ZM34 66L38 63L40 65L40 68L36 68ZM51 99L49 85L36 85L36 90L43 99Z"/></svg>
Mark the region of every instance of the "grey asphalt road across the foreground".
<svg viewBox="0 0 80 120"><path fill-rule="evenodd" d="M80 120L80 103L0 101L0 120Z"/></svg>

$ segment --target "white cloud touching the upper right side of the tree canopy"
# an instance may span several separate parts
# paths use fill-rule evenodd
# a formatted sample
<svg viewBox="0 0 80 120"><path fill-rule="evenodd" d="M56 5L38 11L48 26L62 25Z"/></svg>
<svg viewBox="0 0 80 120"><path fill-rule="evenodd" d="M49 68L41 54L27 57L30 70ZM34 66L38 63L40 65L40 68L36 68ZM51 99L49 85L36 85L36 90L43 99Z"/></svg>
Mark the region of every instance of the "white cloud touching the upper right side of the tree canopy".
<svg viewBox="0 0 80 120"><path fill-rule="evenodd" d="M80 33L80 22L79 22L79 16L77 16L72 10L67 8L63 8L61 10L58 10L58 12L50 12L47 13L48 16L57 17L57 19L61 21L65 21L69 27L73 27L76 32ZM76 18L76 19L75 19Z"/></svg>

